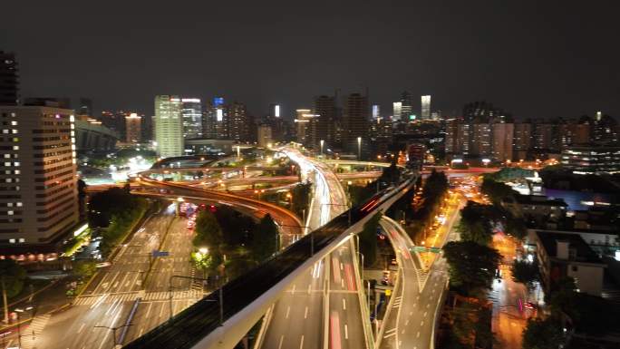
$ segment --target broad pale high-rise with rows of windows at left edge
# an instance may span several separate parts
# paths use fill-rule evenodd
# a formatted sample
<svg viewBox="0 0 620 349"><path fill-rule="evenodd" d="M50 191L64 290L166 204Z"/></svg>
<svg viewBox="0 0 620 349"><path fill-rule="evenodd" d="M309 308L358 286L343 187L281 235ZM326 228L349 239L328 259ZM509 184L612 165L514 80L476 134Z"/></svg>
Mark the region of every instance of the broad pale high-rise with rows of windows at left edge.
<svg viewBox="0 0 620 349"><path fill-rule="evenodd" d="M0 245L59 247L79 219L73 111L4 106L0 120Z"/></svg>

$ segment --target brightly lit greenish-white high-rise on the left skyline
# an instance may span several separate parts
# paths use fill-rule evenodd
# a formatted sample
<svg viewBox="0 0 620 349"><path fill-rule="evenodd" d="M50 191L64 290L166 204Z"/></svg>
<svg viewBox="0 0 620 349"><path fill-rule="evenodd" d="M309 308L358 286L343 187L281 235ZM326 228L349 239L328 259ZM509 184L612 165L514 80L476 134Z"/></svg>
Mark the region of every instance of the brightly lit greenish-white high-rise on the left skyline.
<svg viewBox="0 0 620 349"><path fill-rule="evenodd" d="M155 141L157 155L161 158L183 155L181 108L179 96L155 96Z"/></svg>

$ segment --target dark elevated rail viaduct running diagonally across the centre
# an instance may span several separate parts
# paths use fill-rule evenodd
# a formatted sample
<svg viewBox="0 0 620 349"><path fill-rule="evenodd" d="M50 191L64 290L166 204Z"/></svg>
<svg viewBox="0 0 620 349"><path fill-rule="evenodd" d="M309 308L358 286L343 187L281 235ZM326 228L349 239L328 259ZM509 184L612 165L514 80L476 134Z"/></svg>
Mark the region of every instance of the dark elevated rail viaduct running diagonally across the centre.
<svg viewBox="0 0 620 349"><path fill-rule="evenodd" d="M384 189L360 207L352 208L350 213L338 215L247 275L222 286L220 291L203 298L126 348L234 347L295 279L347 243L374 213L392 206L395 200L412 188L416 179L417 174L409 174L408 179L397 187ZM157 185L175 186L155 182ZM206 194L195 190L180 186L174 189L173 195Z"/></svg>

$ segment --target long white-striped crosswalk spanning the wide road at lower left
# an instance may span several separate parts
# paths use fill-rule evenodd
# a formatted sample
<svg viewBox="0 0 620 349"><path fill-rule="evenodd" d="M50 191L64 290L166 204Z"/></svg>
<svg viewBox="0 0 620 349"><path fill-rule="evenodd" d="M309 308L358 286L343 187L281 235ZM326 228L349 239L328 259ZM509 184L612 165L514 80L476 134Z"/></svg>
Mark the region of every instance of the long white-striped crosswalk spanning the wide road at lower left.
<svg viewBox="0 0 620 349"><path fill-rule="evenodd" d="M195 299L199 300L204 296L204 292L199 289L190 289L185 291L174 291L172 293L173 299ZM138 298L141 298L142 302L150 302L150 301L163 301L170 299L170 292L127 292L121 294L104 294L104 295L95 295L95 296L80 296L78 297L73 305L94 305L95 303L105 304L105 303L113 303L113 302L131 302L135 301Z"/></svg>

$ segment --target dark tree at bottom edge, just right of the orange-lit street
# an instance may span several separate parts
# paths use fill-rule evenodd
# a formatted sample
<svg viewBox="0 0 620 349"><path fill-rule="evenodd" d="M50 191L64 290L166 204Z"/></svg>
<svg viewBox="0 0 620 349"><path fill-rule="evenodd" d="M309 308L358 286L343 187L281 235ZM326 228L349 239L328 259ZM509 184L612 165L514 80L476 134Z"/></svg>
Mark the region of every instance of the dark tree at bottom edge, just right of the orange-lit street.
<svg viewBox="0 0 620 349"><path fill-rule="evenodd" d="M562 326L556 319L529 318L523 331L523 349L557 349L562 343Z"/></svg>

